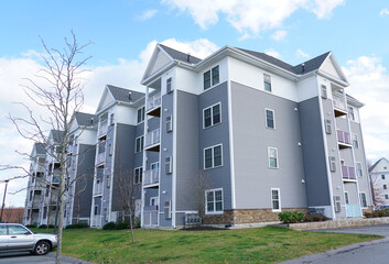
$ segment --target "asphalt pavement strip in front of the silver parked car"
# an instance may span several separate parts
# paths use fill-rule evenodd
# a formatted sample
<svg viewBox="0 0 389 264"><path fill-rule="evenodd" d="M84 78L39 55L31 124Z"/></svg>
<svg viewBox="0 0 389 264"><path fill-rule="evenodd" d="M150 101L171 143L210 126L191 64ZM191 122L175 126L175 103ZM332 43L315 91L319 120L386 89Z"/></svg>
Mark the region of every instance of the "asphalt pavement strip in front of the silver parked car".
<svg viewBox="0 0 389 264"><path fill-rule="evenodd" d="M55 253L48 253L47 255L37 256L30 253L10 253L0 254L1 264L53 264L55 263ZM62 264L88 264L77 258L62 256Z"/></svg>

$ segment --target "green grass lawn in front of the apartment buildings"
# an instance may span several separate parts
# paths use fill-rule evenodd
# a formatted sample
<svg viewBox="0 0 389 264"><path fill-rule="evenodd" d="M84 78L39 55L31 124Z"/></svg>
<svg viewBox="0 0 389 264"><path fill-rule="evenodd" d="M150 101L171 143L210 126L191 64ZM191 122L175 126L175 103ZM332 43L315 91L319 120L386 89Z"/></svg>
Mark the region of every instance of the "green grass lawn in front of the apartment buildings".
<svg viewBox="0 0 389 264"><path fill-rule="evenodd" d="M45 230L33 229L35 232ZM278 263L378 235L257 228L220 231L64 230L63 253L94 263Z"/></svg>

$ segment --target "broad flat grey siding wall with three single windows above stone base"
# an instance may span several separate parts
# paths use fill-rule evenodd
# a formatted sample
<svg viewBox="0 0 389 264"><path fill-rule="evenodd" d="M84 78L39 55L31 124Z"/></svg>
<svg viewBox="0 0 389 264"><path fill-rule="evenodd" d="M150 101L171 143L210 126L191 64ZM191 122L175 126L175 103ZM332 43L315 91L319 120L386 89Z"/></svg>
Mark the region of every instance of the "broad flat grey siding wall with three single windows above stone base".
<svg viewBox="0 0 389 264"><path fill-rule="evenodd" d="M305 208L298 103L230 86L236 209L271 209L271 188L280 188L281 208ZM274 111L275 129L266 128L266 109ZM278 150L278 168L269 168L268 147Z"/></svg>

